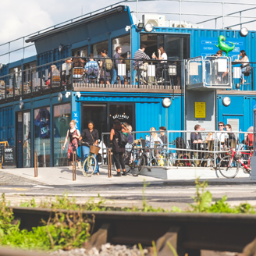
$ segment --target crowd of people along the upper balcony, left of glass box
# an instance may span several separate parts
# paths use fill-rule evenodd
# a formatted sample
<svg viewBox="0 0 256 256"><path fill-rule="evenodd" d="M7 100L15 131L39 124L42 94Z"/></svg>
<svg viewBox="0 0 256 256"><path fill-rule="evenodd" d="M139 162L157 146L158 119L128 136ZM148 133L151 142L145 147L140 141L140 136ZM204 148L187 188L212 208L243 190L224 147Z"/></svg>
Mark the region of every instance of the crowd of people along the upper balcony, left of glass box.
<svg viewBox="0 0 256 256"><path fill-rule="evenodd" d="M151 58L144 52L147 46L145 44L140 44L140 49L135 52L133 55L133 80L137 76L137 72L141 71L140 67L144 64L144 61L148 61L151 58L155 60L160 60L156 69L155 76L158 82L162 82L162 70L167 67L167 54L164 48L158 48L158 55L155 55L155 52L151 55ZM130 55L127 55L127 58L130 59ZM81 58L79 55L75 55L72 58L67 58L66 62L62 64L62 74L60 70L57 69L55 65L51 66L51 72L48 73L48 79L46 80L46 85L50 86L51 83L51 73L52 76L62 76L62 82L67 83L71 76L71 69L73 68L82 69L83 72L73 72L73 79L83 81L86 83L91 83L94 80L98 80L100 84L125 84L125 82L130 81L130 61L123 59L122 56L122 47L116 47L116 52L113 55L113 59L108 57L108 51L101 51L101 59L94 58L94 54L91 53L88 55L88 61L86 62L84 58ZM126 64L126 76L118 74L119 64ZM148 64L148 63L146 63ZM69 72L66 72L66 70ZM59 79L60 80L60 79Z"/></svg>

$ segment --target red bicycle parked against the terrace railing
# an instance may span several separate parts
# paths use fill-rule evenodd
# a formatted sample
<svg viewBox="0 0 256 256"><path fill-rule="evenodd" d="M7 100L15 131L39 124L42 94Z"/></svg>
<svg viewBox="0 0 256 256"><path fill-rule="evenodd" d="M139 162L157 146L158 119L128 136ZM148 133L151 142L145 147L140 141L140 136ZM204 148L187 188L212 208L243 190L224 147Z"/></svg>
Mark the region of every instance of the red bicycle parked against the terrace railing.
<svg viewBox="0 0 256 256"><path fill-rule="evenodd" d="M231 148L230 152L227 154L229 155L226 155L219 161L219 172L222 174L222 176L225 178L234 178L237 175L240 166L243 168L244 172L251 174L251 156L253 155L252 150L250 153L236 152L235 148ZM246 159L248 155L249 158Z"/></svg>

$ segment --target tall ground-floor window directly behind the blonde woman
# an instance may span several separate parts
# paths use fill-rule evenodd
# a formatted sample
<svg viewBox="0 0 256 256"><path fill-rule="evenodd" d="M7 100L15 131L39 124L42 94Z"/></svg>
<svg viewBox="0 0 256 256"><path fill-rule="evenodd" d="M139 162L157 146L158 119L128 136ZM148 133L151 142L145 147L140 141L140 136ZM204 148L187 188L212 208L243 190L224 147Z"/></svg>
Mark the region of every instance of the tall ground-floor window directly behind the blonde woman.
<svg viewBox="0 0 256 256"><path fill-rule="evenodd" d="M55 105L53 107L54 114L54 165L67 166L67 152L66 148L62 150L67 130L69 130L69 123L71 121L71 104Z"/></svg>

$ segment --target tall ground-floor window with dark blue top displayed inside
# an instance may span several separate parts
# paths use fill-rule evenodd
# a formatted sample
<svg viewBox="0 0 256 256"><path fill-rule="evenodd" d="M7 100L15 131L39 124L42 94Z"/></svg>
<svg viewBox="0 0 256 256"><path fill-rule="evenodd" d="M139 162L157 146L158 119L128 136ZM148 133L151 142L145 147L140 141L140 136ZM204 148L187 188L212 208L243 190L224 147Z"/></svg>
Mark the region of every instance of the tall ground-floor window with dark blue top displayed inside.
<svg viewBox="0 0 256 256"><path fill-rule="evenodd" d="M34 110L34 150L37 151L39 167L49 167L51 159L50 107Z"/></svg>

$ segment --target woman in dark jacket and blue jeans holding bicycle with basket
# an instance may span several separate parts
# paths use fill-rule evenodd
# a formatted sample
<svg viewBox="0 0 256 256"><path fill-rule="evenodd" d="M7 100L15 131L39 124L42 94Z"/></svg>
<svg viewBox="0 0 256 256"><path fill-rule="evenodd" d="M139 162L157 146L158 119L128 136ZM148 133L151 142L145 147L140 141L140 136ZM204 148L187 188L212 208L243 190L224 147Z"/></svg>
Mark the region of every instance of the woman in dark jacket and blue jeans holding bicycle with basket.
<svg viewBox="0 0 256 256"><path fill-rule="evenodd" d="M81 136L79 140L82 140L82 149L83 149L83 155L84 160L88 157L90 153L90 146L98 146L98 130L94 129L94 122L91 120L88 122L88 128L84 129L81 133ZM99 169L98 169L98 158L97 155L94 155L97 161L96 169L94 171L94 174L100 175ZM86 165L84 166L85 172L87 172Z"/></svg>

